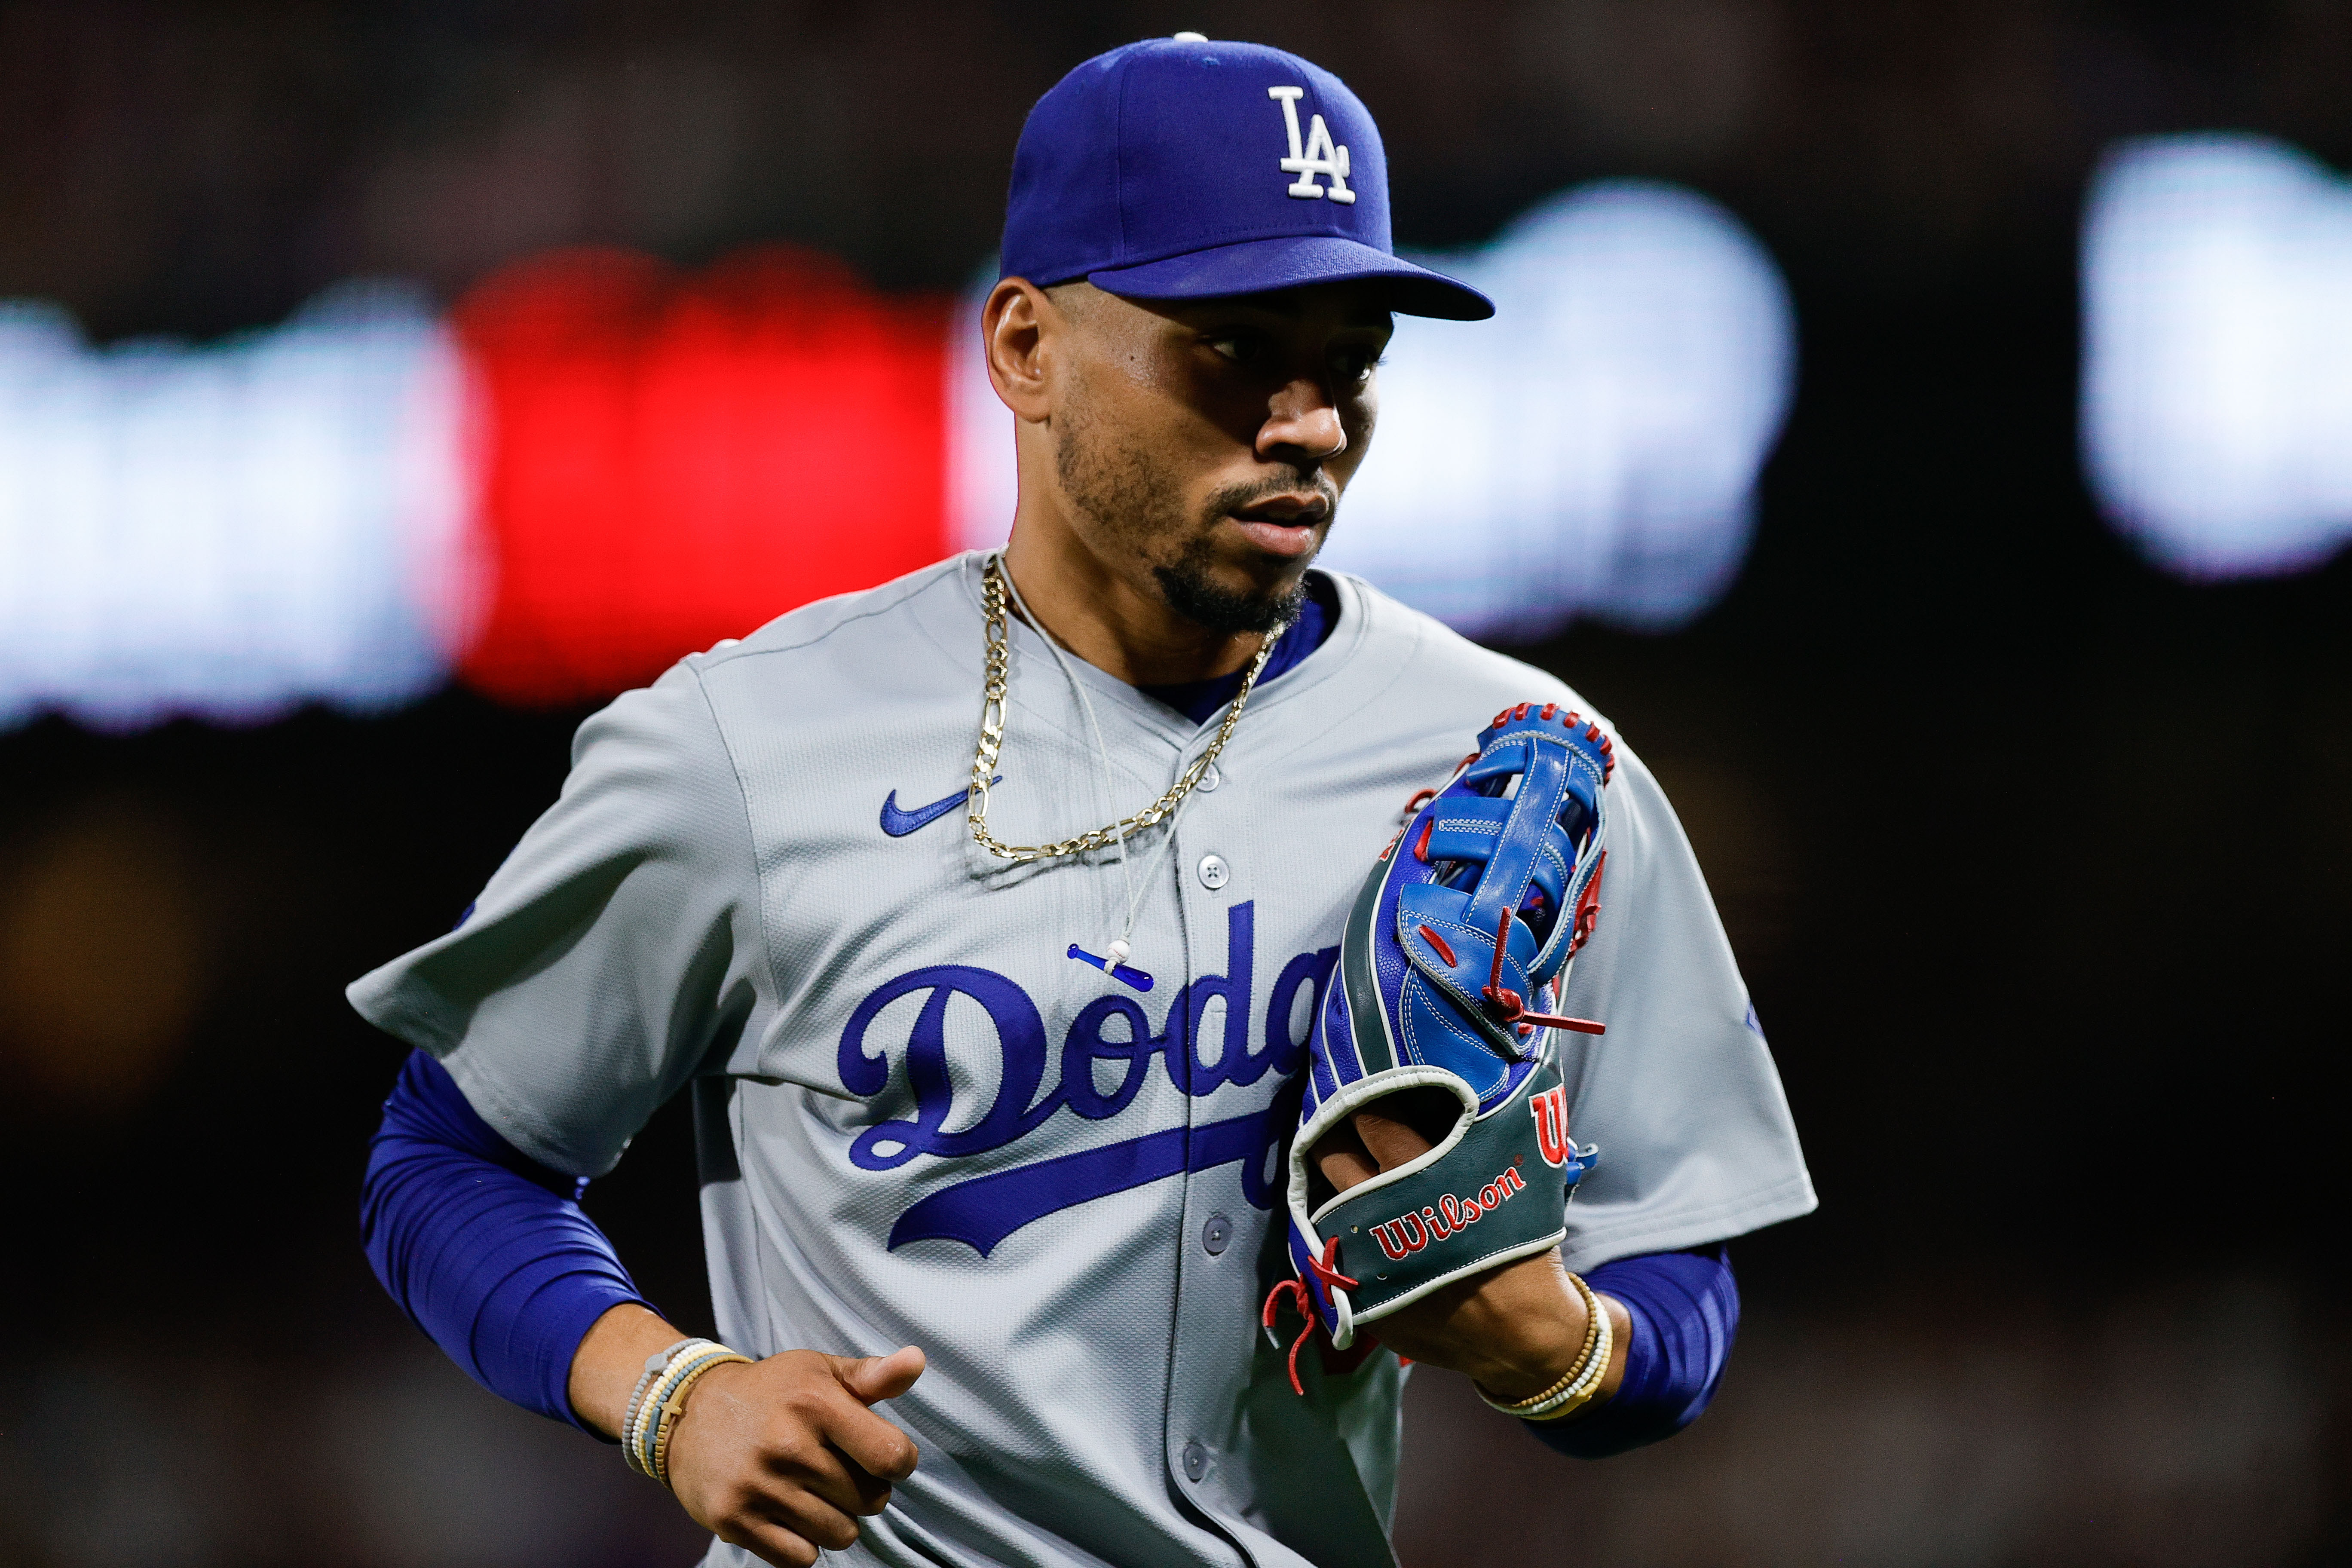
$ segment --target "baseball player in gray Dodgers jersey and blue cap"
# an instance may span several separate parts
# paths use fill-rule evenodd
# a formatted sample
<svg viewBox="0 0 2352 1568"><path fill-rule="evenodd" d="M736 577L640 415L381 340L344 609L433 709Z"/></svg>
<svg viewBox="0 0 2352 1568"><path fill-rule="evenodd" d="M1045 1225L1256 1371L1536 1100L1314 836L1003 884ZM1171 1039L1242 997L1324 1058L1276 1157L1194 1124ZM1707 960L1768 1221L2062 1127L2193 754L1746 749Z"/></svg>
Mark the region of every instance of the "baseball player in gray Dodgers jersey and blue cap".
<svg viewBox="0 0 2352 1568"><path fill-rule="evenodd" d="M983 317L1011 543L619 698L350 987L416 1046L386 1288L708 1563L1385 1566L1406 1361L1588 1458L1712 1394L1722 1241L1813 1194L1689 844L1573 691L1312 569L1399 310L1491 315L1334 75L1087 61ZM579 1208L680 1091L720 1340Z"/></svg>

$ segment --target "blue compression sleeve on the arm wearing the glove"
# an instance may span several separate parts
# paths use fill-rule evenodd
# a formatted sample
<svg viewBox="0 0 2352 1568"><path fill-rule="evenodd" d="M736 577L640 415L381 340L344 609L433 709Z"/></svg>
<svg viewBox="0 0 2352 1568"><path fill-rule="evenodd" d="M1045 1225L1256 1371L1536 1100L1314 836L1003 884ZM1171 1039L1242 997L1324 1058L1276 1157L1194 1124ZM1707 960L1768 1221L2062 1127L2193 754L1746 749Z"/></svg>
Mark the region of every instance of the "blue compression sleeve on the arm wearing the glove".
<svg viewBox="0 0 2352 1568"><path fill-rule="evenodd" d="M1625 1380L1590 1415L1526 1429L1545 1448L1606 1460L1675 1436L1708 1408L1740 1326L1740 1288L1722 1246L1618 1258L1590 1269L1585 1284L1625 1302L1632 1319Z"/></svg>

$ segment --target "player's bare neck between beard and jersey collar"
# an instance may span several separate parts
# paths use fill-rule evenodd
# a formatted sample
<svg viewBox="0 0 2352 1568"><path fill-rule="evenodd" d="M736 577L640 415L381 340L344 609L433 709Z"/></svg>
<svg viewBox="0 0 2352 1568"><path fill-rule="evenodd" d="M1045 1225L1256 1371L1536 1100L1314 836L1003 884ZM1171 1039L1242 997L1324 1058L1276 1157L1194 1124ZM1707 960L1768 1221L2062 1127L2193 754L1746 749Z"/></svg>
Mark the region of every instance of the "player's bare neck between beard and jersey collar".
<svg viewBox="0 0 2352 1568"><path fill-rule="evenodd" d="M1042 510L1042 508L1040 508ZM1040 517L1023 487L1004 569L1047 637L1129 686L1176 686L1232 675L1258 656L1265 632L1211 632L1115 571L1061 517Z"/></svg>

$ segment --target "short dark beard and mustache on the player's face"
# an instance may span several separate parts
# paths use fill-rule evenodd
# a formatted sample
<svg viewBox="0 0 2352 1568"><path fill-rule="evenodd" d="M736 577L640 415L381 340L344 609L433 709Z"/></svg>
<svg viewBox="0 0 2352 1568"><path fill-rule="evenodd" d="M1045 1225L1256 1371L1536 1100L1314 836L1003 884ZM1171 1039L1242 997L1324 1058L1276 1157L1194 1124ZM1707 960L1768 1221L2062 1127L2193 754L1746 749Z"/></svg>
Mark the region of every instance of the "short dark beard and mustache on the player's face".
<svg viewBox="0 0 2352 1568"><path fill-rule="evenodd" d="M1082 400L1080 400L1082 402ZM1122 550L1150 564L1160 597L1178 616L1209 632L1272 632L1298 616L1305 599L1305 567L1284 585L1247 590L1216 581L1211 534L1228 515L1268 496L1319 491L1338 508L1338 487L1322 470L1279 465L1251 484L1228 484L1209 494L1197 512L1183 505L1178 475L1157 454L1127 447L1084 416L1063 416L1054 473L1073 508ZM1317 548L1319 552L1319 548Z"/></svg>

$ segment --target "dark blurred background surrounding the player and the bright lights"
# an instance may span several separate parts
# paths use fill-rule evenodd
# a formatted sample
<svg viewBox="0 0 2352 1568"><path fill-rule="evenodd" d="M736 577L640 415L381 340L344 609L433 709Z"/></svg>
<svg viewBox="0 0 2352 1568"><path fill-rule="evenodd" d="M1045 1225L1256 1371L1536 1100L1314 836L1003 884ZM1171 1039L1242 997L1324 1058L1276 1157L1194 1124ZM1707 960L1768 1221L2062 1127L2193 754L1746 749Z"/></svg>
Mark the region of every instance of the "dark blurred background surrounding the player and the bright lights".
<svg viewBox="0 0 2352 1568"><path fill-rule="evenodd" d="M1404 1561L2352 1556L2352 569L2171 581L2074 444L2100 148L2352 162L2352 5L5 5L0 296L202 339L771 237L955 289L1028 103L1176 28L1345 75L1406 244L1646 174L1797 306L1731 595L1522 654L1684 811L1823 1206L1733 1248L1743 1345L1675 1443L1573 1465L1418 1378ZM691 1561L355 1239L402 1048L341 985L449 926L581 717L0 733L0 1561ZM588 1208L694 1326L689 1145L663 1112Z"/></svg>

